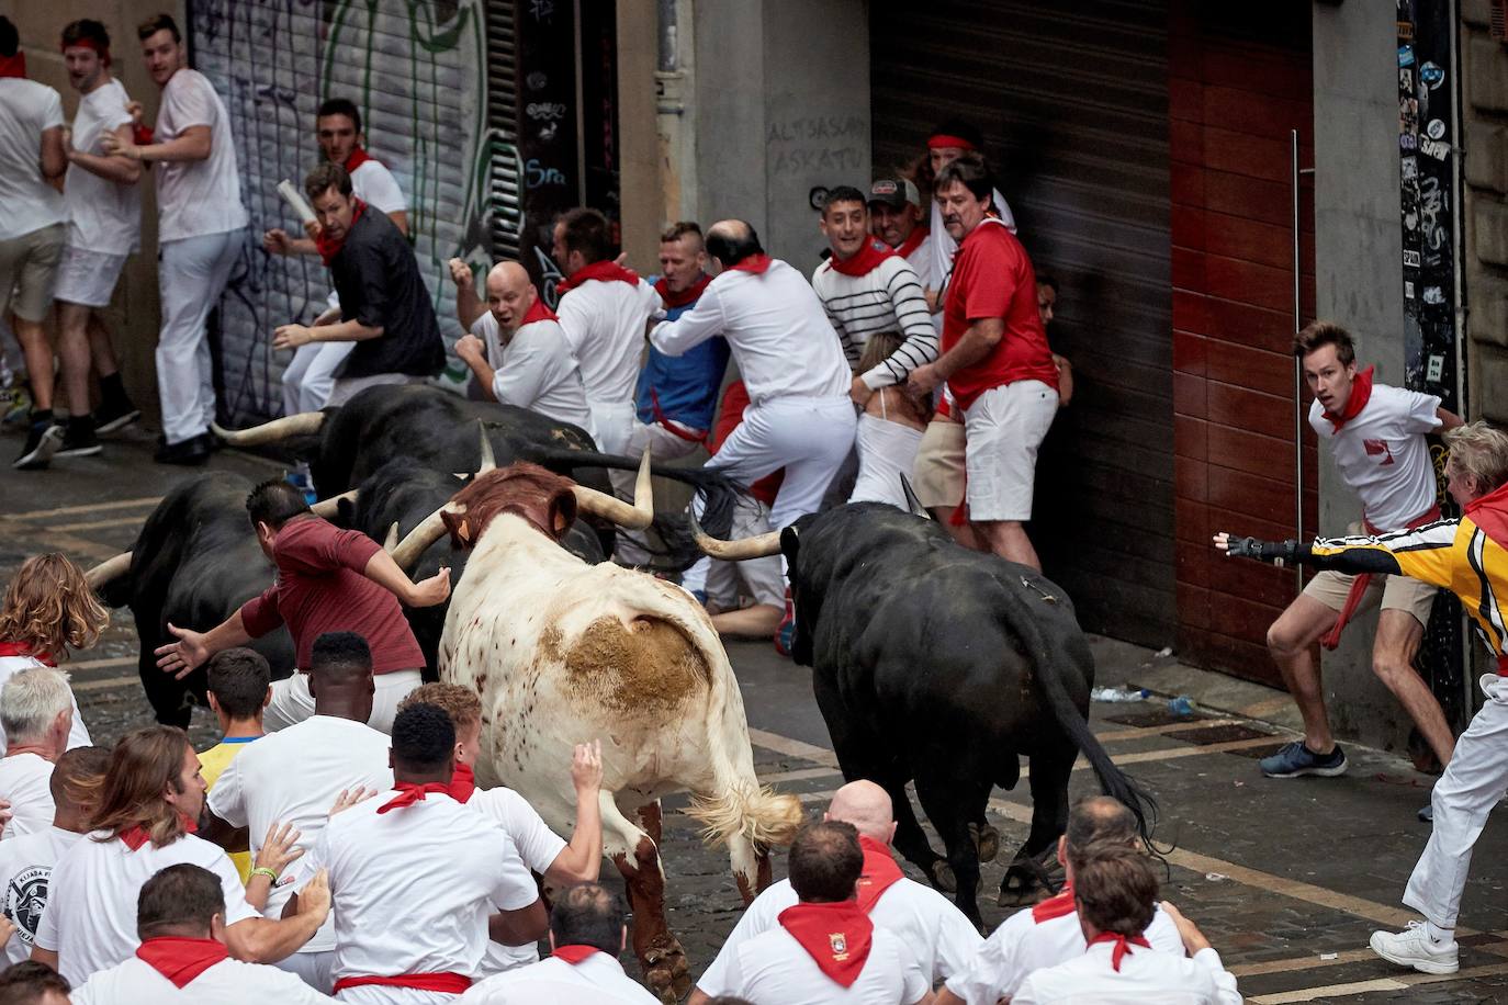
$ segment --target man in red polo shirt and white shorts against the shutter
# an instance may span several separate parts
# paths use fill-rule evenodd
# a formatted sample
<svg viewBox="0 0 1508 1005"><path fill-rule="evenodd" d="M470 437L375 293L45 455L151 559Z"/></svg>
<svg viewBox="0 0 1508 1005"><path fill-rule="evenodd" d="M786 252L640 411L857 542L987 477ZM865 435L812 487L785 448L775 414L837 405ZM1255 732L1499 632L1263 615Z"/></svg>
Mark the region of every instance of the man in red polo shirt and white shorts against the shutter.
<svg viewBox="0 0 1508 1005"><path fill-rule="evenodd" d="M908 383L920 393L947 383L952 410L964 414L968 517L991 551L1041 570L1021 524L1031 517L1038 446L1057 413L1057 366L1031 259L995 215L992 190L976 155L938 172L933 197L959 246L944 289L942 356Z"/></svg>

